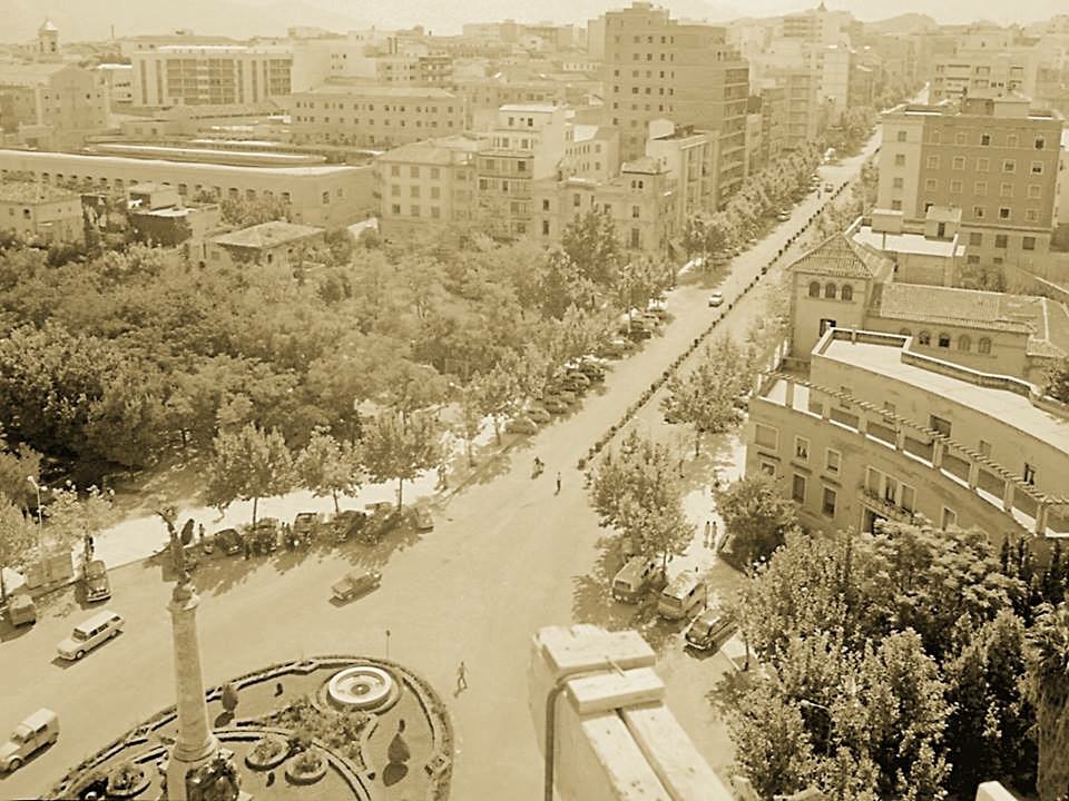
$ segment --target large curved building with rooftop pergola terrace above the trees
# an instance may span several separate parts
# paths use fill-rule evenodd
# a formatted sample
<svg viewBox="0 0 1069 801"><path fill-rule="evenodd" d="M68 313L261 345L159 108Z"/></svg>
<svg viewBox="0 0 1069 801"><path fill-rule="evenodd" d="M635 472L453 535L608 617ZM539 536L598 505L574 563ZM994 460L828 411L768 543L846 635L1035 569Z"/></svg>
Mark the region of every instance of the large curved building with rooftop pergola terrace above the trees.
<svg viewBox="0 0 1069 801"><path fill-rule="evenodd" d="M994 544L1069 536L1069 407L914 343L825 332L807 377L773 374L751 400L747 472L774 477L812 528L923 517Z"/></svg>

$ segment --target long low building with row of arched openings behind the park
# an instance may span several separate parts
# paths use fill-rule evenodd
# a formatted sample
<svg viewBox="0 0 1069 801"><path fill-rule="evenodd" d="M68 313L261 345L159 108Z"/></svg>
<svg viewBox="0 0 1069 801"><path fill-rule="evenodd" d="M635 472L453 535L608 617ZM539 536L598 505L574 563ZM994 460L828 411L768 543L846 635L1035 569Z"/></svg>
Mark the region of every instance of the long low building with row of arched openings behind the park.
<svg viewBox="0 0 1069 801"><path fill-rule="evenodd" d="M357 222L375 208L372 168L344 165L242 167L207 161L165 161L114 156L0 149L0 177L27 174L35 181L125 192L156 182L183 197L282 198L293 222L336 228Z"/></svg>

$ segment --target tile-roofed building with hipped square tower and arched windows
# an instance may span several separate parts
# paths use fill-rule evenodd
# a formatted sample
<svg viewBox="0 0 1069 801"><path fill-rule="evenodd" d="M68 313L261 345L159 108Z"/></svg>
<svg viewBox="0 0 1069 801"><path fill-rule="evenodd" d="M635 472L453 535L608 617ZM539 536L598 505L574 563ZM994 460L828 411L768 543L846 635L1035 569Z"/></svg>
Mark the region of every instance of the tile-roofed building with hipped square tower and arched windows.
<svg viewBox="0 0 1069 801"><path fill-rule="evenodd" d="M941 362L1041 383L1069 354L1061 304L898 283L894 273L892 258L845 233L792 264L791 356L804 363L830 328L872 330L913 337L913 352Z"/></svg>

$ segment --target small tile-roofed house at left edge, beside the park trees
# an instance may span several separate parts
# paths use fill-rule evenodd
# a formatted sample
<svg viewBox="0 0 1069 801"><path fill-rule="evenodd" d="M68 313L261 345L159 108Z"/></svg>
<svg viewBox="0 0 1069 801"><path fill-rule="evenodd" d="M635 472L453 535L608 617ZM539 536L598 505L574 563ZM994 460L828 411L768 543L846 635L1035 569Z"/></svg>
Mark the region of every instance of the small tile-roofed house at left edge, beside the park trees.
<svg viewBox="0 0 1069 801"><path fill-rule="evenodd" d="M85 237L81 200L47 184L0 184L0 231L41 243L76 243Z"/></svg>

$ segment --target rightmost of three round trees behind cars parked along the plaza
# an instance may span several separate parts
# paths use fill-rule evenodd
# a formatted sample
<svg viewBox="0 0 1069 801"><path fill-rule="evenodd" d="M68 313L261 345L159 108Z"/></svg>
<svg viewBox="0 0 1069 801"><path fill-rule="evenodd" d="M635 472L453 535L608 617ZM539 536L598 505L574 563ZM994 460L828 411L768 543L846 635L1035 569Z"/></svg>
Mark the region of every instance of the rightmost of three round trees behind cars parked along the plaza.
<svg viewBox="0 0 1069 801"><path fill-rule="evenodd" d="M386 411L374 418L364 435L365 464L375 481L398 482L398 506L403 505L404 482L441 462L441 425L426 412L402 417Z"/></svg>

